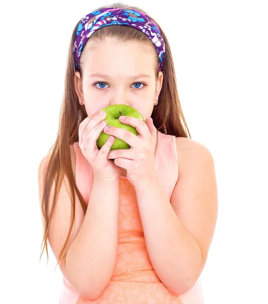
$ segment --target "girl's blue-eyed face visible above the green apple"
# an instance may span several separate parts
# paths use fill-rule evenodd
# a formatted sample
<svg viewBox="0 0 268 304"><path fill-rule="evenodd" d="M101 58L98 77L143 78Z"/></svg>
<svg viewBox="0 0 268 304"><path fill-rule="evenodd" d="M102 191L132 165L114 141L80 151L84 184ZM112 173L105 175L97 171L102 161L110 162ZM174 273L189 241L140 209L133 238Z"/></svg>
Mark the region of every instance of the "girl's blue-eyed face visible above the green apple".
<svg viewBox="0 0 268 304"><path fill-rule="evenodd" d="M108 105L127 104L137 109L144 121L151 116L163 83L162 71L155 78L153 48L110 38L101 43L87 42L83 50L83 80L76 71L74 85L79 99L84 99L88 115Z"/></svg>

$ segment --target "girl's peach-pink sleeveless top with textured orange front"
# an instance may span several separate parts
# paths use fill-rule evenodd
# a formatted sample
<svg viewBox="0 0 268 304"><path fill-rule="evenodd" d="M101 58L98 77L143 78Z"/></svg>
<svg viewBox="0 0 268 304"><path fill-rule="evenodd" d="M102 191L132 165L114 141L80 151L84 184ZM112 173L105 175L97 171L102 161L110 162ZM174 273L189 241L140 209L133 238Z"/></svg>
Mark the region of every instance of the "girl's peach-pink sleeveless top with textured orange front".
<svg viewBox="0 0 268 304"><path fill-rule="evenodd" d="M178 180L176 137L158 130L157 135L155 165L170 200ZM73 148L76 159L75 183L88 203L94 178L93 171L78 142L74 142ZM59 304L203 304L200 278L192 289L178 296L159 279L146 249L135 189L125 176L119 177L119 192L118 257L110 282L97 299L90 300L78 294L63 276Z"/></svg>

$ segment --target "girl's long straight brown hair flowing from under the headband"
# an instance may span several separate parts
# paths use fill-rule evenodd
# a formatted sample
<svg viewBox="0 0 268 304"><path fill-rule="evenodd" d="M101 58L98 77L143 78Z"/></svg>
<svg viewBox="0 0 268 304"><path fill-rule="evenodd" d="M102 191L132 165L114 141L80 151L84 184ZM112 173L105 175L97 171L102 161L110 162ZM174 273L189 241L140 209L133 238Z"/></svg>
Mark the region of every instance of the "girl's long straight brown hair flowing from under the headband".
<svg viewBox="0 0 268 304"><path fill-rule="evenodd" d="M128 6L123 3L114 3L112 5L102 6L96 10L102 8L109 8L109 7L134 9L146 13L145 11L143 11L138 7ZM149 14L147 15L149 16ZM154 20L153 18L151 19L154 22L156 22L156 20ZM174 68L173 58L171 55L170 46L164 31L157 22L156 24L159 26L162 33L162 37L165 42L165 55L164 55L164 64L162 70L164 74L164 78L163 78L162 89L158 99L159 102L154 107L154 110L152 111L151 114L151 118L154 121L155 127L160 132L164 134L174 135L176 137L187 137L185 128L188 131L188 134L189 134L189 130L186 125L179 101L175 68ZM79 124L88 116L85 106L84 105L81 106L79 103L79 98L75 93L75 87L74 87L75 64L74 64L72 49L74 44L75 32L78 25L79 22L75 25L73 29L71 41L69 44L69 50L67 54L67 65L65 72L64 94L60 108L59 128L58 128L55 143L52 145L52 147L50 148L47 154L47 156L49 157L46 168L44 170L43 196L41 202L41 206L42 206L41 209L45 222L43 227L44 238L41 247L43 245L44 246L40 259L43 255L45 248L47 252L47 257L49 259L48 244L47 244L49 227L53 216L53 211L55 209L55 204L58 198L58 194L60 191L60 187L62 184L62 180L63 178L64 178L64 182L65 179L68 180L71 191L71 195L70 195L71 207L72 207L71 225L68 236L61 249L57 263L61 258L63 258L64 263L66 262L66 254L67 254L66 247L69 242L69 237L71 234L71 229L73 226L74 215L75 215L74 191L78 195L84 213L86 213L87 210L86 202L84 201L78 187L75 184L75 177L73 176L73 171L71 166L71 154L70 154L70 145L72 145L76 141L79 141L79 136L78 136ZM101 41L105 39L105 37L116 37L120 41L138 41L146 44L148 44L149 42L151 44L147 35L142 33L140 30L137 30L130 26L119 26L119 25L109 25L109 26L101 27L90 36L90 39ZM81 77L82 77L83 51L81 54L80 61L81 61ZM158 65L159 65L159 59L156 52L156 78L158 78ZM185 128L181 120L183 121ZM189 134L189 138L191 138L190 134ZM54 180L55 180L55 193L53 197L51 214L49 215L48 202Z"/></svg>

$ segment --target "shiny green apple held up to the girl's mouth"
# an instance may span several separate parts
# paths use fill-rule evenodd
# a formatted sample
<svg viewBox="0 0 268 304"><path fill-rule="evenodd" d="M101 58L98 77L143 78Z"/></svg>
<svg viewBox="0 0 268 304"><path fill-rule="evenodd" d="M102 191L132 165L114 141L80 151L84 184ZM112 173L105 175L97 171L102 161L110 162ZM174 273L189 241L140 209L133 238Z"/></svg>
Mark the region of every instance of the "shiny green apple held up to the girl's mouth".
<svg viewBox="0 0 268 304"><path fill-rule="evenodd" d="M133 108L129 105L126 105L126 104L109 105L109 106L105 107L104 109L100 110L100 112L101 111L105 111L107 113L104 121L107 122L108 126L121 128L121 129L130 131L130 132L134 133L135 135L138 135L138 132L136 131L136 129L130 125L122 124L119 121L119 117L120 116L130 116L130 117L135 117L135 118L138 118L138 119L144 121L141 113L138 110L136 110L135 108ZM97 146L99 149L104 145L104 143L109 138L109 136L110 136L109 134L106 134L105 132L101 131L100 136L97 139ZM130 148L130 145L128 143L126 143L124 140L122 140L118 137L114 137L114 142L110 149L116 150L116 149L129 149L129 148Z"/></svg>

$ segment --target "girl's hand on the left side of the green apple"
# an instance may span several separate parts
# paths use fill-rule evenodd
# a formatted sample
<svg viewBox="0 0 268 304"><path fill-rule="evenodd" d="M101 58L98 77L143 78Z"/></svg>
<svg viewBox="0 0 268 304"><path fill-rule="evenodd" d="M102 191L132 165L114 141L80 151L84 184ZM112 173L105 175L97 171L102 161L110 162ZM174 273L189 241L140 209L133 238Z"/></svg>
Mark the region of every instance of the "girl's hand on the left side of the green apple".
<svg viewBox="0 0 268 304"><path fill-rule="evenodd" d="M99 111L95 115L91 114L79 125L79 146L93 169L94 178L97 177L104 180L118 179L121 174L121 168L114 164L113 160L107 159L114 137L109 136L101 149L97 146L97 139L107 125L106 121L104 121L106 112L103 116L99 116L98 113ZM99 124L102 121L104 125L100 126Z"/></svg>

